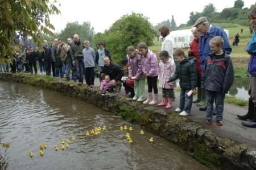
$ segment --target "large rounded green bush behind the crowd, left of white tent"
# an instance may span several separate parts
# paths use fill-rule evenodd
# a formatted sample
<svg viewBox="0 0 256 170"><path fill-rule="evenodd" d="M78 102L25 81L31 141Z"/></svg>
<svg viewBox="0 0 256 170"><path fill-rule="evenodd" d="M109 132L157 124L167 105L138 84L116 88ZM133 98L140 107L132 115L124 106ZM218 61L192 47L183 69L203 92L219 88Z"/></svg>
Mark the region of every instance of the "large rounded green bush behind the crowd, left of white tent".
<svg viewBox="0 0 256 170"><path fill-rule="evenodd" d="M140 42L152 45L155 34L154 28L145 16L132 13L123 15L104 34L96 34L93 42L97 44L104 41L114 61L119 63L126 58L127 47L136 47Z"/></svg>

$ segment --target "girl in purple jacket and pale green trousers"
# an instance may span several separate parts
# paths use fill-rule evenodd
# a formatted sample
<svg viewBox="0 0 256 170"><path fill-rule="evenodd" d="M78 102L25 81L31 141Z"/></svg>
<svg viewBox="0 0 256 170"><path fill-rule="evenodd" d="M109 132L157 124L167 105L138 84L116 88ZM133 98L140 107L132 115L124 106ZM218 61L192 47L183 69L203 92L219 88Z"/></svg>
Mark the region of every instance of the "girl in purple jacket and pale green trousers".
<svg viewBox="0 0 256 170"><path fill-rule="evenodd" d="M145 79L146 74L142 72L141 56L137 54L135 48L130 46L127 48L127 59L128 59L128 77L134 81L134 92L135 95L133 100L142 102L145 94Z"/></svg>

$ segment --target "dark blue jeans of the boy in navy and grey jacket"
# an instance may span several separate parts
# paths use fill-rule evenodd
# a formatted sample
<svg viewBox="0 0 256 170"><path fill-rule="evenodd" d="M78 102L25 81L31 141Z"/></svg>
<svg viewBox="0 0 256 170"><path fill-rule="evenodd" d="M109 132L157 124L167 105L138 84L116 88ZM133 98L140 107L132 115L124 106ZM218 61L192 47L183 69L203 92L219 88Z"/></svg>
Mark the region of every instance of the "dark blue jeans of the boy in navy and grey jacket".
<svg viewBox="0 0 256 170"><path fill-rule="evenodd" d="M207 120L212 121L213 102L215 100L216 111L217 111L216 120L222 121L225 93L205 90L205 94L207 98Z"/></svg>

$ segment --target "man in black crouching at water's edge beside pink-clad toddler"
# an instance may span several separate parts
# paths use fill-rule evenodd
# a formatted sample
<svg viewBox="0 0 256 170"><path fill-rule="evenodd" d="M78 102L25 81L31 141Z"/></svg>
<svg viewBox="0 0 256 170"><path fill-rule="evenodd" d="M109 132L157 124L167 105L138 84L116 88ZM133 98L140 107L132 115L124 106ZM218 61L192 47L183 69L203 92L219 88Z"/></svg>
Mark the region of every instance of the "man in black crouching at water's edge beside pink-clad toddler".
<svg viewBox="0 0 256 170"><path fill-rule="evenodd" d="M110 62L110 59L107 56L104 57L104 67L101 71L102 80L104 80L106 75L109 75L110 77L110 90L116 89L118 92L121 88L121 78L123 77L123 71L118 64Z"/></svg>

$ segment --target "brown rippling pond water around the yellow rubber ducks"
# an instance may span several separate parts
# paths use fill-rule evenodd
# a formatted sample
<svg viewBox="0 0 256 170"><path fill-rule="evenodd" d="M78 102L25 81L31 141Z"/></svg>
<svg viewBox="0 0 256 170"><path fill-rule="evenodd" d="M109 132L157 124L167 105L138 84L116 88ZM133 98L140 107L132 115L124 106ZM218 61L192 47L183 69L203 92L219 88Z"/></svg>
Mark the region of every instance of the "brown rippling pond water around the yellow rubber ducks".
<svg viewBox="0 0 256 170"><path fill-rule="evenodd" d="M133 127L131 144L127 130L119 129L124 125ZM104 126L98 135L85 135ZM0 82L0 169L208 169L167 140L140 131L141 127L75 98ZM66 138L69 147L61 150L61 139ZM42 143L47 148L40 156Z"/></svg>

